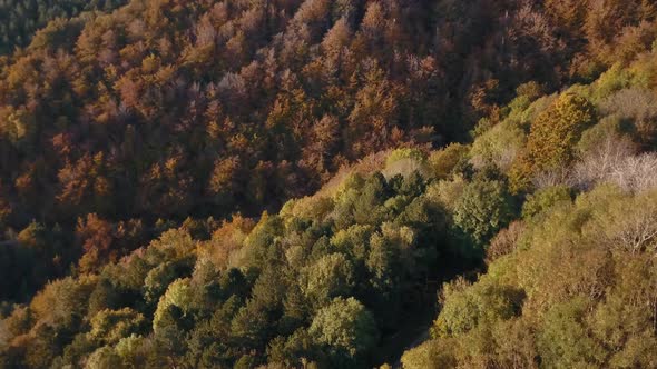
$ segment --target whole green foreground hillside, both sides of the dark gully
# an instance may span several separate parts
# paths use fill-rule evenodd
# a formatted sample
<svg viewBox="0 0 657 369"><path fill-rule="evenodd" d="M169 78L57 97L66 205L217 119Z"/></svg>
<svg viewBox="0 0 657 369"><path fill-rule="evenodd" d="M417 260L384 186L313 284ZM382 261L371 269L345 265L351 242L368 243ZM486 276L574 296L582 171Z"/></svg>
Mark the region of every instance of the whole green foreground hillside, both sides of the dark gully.
<svg viewBox="0 0 657 369"><path fill-rule="evenodd" d="M2 359L371 367L451 279L404 367L651 367L656 60L523 84L471 144L369 156L278 213L188 220L49 283L2 321Z"/></svg>

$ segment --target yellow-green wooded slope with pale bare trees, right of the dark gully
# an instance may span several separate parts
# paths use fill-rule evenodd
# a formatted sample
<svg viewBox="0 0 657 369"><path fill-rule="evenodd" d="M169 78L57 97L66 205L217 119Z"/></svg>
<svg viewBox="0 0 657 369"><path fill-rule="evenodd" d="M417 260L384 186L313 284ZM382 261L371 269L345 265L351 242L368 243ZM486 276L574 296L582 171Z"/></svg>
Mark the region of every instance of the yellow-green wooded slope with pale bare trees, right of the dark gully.
<svg viewBox="0 0 657 369"><path fill-rule="evenodd" d="M657 366L656 66L653 51L559 97L521 96L474 140L471 162L526 201L483 272L443 286L404 368Z"/></svg>

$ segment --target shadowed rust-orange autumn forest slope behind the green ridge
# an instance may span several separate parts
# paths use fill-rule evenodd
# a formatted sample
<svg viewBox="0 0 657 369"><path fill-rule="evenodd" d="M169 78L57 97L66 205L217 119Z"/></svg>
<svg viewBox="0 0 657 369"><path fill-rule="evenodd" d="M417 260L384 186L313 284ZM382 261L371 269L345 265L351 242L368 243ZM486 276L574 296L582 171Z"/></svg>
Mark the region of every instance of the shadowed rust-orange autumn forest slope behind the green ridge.
<svg viewBox="0 0 657 369"><path fill-rule="evenodd" d="M2 297L187 217L276 211L366 154L468 140L523 82L555 91L649 50L654 17L650 1L134 0L55 20L0 58L0 252L43 265ZM38 250L18 237L35 229Z"/></svg>

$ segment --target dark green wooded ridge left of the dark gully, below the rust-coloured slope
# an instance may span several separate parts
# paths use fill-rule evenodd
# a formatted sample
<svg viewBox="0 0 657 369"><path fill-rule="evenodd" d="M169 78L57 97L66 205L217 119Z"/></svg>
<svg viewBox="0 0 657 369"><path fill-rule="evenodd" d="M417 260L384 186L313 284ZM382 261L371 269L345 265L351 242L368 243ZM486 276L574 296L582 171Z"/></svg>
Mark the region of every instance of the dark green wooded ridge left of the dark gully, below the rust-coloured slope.
<svg viewBox="0 0 657 369"><path fill-rule="evenodd" d="M0 358L9 367L381 363L380 339L432 305L428 280L477 266L513 216L502 180L459 174L462 152L377 154L277 215L168 230L17 307L2 321ZM459 184L438 180L452 177ZM451 211L443 201L455 188L464 195Z"/></svg>

